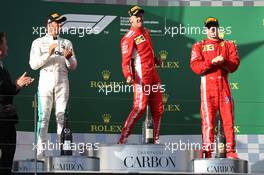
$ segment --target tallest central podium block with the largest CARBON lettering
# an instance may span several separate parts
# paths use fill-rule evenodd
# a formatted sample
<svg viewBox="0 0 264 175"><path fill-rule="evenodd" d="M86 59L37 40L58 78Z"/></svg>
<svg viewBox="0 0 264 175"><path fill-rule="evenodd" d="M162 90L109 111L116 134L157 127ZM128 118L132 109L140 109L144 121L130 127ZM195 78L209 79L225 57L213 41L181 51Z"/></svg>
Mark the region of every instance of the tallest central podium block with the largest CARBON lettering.
<svg viewBox="0 0 264 175"><path fill-rule="evenodd" d="M192 172L192 159L199 151L171 151L163 144L101 145L100 171L139 172Z"/></svg>

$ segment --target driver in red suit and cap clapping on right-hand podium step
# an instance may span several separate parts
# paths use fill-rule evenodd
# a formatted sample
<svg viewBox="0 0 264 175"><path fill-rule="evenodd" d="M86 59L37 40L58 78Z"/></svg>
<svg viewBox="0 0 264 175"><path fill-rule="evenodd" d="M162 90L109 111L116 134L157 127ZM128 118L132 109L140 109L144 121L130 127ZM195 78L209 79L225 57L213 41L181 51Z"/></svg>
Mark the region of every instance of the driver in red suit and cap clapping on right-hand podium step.
<svg viewBox="0 0 264 175"><path fill-rule="evenodd" d="M203 149L206 158L212 154L216 114L219 111L226 136L227 158L237 159L234 136L234 102L228 74L239 66L239 56L232 41L219 38L219 23L209 17L205 21L207 39L192 47L191 69L201 75L201 118Z"/></svg>

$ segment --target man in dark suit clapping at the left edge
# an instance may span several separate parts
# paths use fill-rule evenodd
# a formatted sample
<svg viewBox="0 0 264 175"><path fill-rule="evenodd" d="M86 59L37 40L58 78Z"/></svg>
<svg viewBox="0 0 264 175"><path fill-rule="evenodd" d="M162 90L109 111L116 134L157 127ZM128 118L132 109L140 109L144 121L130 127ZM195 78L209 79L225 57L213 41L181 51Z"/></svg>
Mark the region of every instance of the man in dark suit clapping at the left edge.
<svg viewBox="0 0 264 175"><path fill-rule="evenodd" d="M33 82L24 73L16 82L3 66L2 60L7 56L7 41L4 32L0 32L0 174L12 174L13 158L16 150L16 123L18 117L13 105L13 97L19 90Z"/></svg>

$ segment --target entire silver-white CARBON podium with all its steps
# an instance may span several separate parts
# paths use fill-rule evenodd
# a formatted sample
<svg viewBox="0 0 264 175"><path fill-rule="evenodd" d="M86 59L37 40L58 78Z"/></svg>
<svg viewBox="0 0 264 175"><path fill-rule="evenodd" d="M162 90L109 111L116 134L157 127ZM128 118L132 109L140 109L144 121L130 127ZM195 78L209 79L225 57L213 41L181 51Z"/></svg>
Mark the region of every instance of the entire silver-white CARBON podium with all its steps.
<svg viewBox="0 0 264 175"><path fill-rule="evenodd" d="M88 152L87 152L88 153ZM163 144L100 145L97 154L86 156L51 156L43 162L14 162L15 172L45 173L247 173L248 163L241 159L201 159L201 150L170 150ZM98 157L95 157L98 156Z"/></svg>

